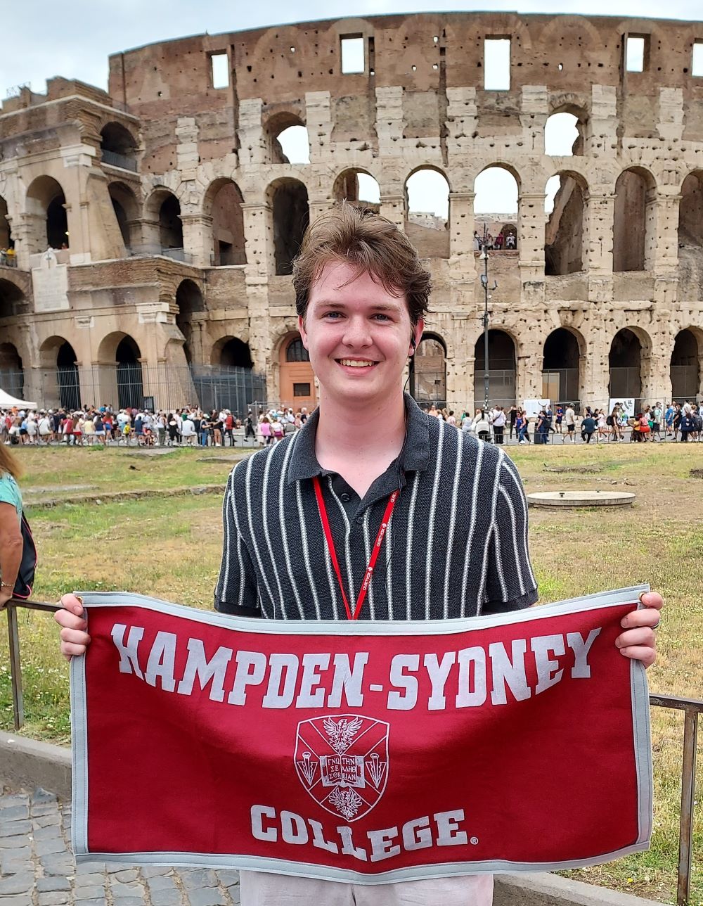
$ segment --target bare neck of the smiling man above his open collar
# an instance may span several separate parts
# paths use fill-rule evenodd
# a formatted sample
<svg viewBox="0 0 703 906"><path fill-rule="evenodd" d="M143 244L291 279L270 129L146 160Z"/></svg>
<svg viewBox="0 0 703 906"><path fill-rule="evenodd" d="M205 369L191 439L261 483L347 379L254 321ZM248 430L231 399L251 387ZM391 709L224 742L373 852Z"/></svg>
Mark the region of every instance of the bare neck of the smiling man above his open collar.
<svg viewBox="0 0 703 906"><path fill-rule="evenodd" d="M323 468L339 472L357 492L371 487L405 440L402 393L390 400L356 409L336 400L320 400L315 455ZM363 496L361 493L361 496Z"/></svg>

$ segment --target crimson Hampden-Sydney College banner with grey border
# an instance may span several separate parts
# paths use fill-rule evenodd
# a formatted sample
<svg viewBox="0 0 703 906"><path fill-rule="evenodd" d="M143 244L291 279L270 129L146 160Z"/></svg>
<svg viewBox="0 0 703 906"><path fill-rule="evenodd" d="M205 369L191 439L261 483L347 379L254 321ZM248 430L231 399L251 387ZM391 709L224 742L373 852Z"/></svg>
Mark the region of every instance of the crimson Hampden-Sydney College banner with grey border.
<svg viewBox="0 0 703 906"><path fill-rule="evenodd" d="M354 883L644 850L642 588L443 622L283 622L83 593L78 861Z"/></svg>

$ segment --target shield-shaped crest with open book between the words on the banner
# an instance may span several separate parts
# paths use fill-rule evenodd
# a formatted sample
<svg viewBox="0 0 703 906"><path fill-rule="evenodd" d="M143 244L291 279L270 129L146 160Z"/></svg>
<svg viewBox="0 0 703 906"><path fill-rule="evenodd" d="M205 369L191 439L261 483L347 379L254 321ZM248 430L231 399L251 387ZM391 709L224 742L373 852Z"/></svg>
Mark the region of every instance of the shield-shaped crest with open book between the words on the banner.
<svg viewBox="0 0 703 906"><path fill-rule="evenodd" d="M386 789L389 729L361 714L302 720L295 770L315 802L347 821L369 814Z"/></svg>

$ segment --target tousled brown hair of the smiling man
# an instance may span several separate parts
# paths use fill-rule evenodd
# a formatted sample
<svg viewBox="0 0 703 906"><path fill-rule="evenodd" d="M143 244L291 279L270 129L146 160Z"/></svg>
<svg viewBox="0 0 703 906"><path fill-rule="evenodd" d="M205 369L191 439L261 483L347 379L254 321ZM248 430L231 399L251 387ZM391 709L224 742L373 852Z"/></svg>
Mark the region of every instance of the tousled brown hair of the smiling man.
<svg viewBox="0 0 703 906"><path fill-rule="evenodd" d="M293 264L295 310L304 318L324 265L342 261L368 273L390 294L404 296L413 327L429 311L431 277L414 246L394 223L342 201L305 231Z"/></svg>

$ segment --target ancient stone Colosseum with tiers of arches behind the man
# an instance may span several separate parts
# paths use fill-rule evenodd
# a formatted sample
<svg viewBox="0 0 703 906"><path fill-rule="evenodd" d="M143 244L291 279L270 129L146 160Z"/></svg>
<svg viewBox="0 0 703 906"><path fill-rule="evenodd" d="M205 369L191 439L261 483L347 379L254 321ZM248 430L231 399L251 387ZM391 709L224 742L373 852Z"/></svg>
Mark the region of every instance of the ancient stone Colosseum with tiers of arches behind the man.
<svg viewBox="0 0 703 906"><path fill-rule="evenodd" d="M476 204L496 169L514 211ZM444 214L411 209L428 173ZM485 371L508 404L701 399L703 24L486 13L197 35L113 54L108 92L5 100L0 386L314 405L291 263L343 198L431 269L419 400L473 405Z"/></svg>

